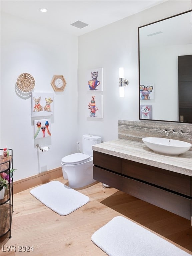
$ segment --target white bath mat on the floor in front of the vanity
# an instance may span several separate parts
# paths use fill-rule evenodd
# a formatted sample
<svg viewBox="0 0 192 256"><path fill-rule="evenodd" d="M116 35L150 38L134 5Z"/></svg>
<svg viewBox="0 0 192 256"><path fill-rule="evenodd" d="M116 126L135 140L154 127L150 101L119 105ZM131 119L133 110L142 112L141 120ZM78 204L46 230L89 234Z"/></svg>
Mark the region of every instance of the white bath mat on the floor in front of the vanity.
<svg viewBox="0 0 192 256"><path fill-rule="evenodd" d="M117 216L98 229L91 240L109 256L190 255L136 223Z"/></svg>

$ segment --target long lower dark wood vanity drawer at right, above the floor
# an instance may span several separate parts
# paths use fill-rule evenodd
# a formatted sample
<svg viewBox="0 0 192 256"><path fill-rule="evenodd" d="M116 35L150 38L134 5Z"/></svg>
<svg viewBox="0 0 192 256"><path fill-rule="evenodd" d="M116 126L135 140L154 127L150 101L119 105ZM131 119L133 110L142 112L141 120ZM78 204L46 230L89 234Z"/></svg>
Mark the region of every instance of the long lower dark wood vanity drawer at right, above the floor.
<svg viewBox="0 0 192 256"><path fill-rule="evenodd" d="M191 200L188 198L126 177L122 177L121 190L186 219L191 219Z"/></svg>

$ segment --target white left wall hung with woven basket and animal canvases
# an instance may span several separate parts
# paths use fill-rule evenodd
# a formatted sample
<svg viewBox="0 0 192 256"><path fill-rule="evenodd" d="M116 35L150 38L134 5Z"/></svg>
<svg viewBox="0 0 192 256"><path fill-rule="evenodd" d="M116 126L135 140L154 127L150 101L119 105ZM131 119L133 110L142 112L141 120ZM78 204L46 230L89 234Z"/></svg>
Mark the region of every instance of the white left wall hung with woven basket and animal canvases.
<svg viewBox="0 0 192 256"><path fill-rule="evenodd" d="M57 168L62 157L77 152L77 69L77 37L1 15L0 146L13 149L14 180ZM15 91L22 73L34 77L34 92L54 93L51 145L46 145L50 146L46 153L34 147L31 97L23 99ZM50 84L53 75L65 77L63 92L54 92Z"/></svg>

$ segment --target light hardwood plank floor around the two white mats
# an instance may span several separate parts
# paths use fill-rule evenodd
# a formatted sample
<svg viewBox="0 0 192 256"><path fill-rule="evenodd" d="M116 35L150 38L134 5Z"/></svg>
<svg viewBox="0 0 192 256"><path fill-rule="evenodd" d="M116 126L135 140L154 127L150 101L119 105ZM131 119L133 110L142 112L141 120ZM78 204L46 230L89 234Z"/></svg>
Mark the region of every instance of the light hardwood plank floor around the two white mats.
<svg viewBox="0 0 192 256"><path fill-rule="evenodd" d="M56 179L66 185L63 178ZM91 235L115 216L124 216L192 254L191 222L101 183L78 191L90 202L60 216L33 197L27 189L14 195L11 236L1 238L1 256L102 256ZM142 242L142 241L141 241ZM10 247L12 246L12 247ZM29 246L30 252L19 252ZM8 251L10 250L10 251Z"/></svg>

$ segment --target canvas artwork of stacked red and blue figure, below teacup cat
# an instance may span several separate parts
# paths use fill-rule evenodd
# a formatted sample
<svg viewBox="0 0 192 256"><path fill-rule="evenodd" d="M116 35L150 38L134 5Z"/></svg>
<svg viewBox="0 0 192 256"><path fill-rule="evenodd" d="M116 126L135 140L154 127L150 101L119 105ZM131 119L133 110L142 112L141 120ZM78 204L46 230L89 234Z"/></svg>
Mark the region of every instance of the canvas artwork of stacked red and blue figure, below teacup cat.
<svg viewBox="0 0 192 256"><path fill-rule="evenodd" d="M103 95L87 95L87 117L103 118Z"/></svg>

